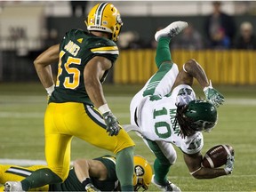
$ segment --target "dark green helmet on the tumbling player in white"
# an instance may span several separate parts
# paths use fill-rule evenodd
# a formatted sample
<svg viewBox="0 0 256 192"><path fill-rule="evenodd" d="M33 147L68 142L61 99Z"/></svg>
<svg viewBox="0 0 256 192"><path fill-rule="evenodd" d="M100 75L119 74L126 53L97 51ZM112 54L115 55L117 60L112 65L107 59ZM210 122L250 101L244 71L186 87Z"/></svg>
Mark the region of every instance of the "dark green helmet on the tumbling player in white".
<svg viewBox="0 0 256 192"><path fill-rule="evenodd" d="M189 128L200 132L210 132L218 119L217 109L207 100L191 100L182 117Z"/></svg>

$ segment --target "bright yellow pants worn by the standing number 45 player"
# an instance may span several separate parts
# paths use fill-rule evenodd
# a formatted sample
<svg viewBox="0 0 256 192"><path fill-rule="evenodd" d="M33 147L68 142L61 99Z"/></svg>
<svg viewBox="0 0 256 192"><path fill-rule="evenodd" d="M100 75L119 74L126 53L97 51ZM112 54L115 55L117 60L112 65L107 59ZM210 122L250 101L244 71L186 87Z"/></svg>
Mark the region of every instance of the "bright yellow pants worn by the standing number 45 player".
<svg viewBox="0 0 256 192"><path fill-rule="evenodd" d="M76 102L50 103L44 116L45 157L49 168L62 180L68 177L70 144L73 136L113 153L134 146L124 129L108 136L99 111ZM86 148L84 148L86 152Z"/></svg>

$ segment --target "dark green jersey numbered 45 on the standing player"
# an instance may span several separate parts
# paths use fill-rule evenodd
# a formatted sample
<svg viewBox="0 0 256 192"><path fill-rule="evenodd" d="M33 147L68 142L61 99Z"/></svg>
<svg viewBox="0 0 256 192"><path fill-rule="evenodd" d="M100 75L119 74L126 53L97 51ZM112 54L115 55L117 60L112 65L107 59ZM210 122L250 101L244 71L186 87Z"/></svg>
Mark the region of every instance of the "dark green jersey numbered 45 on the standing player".
<svg viewBox="0 0 256 192"><path fill-rule="evenodd" d="M83 30L72 29L60 43L60 60L54 92L49 102L81 102L92 105L84 86L84 68L95 56L111 60L118 57L118 48L112 40L93 36ZM100 79L103 83L108 71Z"/></svg>

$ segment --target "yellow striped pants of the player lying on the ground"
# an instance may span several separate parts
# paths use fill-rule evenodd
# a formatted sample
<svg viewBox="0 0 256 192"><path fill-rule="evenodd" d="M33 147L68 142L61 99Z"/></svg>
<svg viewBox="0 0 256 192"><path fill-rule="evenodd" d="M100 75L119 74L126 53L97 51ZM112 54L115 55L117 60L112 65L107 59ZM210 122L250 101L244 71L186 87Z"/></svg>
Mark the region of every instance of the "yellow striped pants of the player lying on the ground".
<svg viewBox="0 0 256 192"><path fill-rule="evenodd" d="M0 164L0 191L4 191L5 182L12 181L21 181L24 180L31 172L34 172L38 169L45 168L44 165L34 165L29 167L21 167L11 164ZM33 188L31 191L48 191L49 186L44 186L41 188ZM29 190L30 191L30 190Z"/></svg>

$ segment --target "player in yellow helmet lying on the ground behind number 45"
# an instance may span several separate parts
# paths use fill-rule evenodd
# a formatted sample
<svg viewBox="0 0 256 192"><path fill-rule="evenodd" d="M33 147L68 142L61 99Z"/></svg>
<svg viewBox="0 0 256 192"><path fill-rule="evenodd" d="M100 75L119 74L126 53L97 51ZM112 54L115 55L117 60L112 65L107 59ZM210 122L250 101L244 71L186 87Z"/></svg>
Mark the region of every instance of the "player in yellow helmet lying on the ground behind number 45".
<svg viewBox="0 0 256 192"><path fill-rule="evenodd" d="M148 189L152 178L152 168L142 156L134 156L133 188ZM116 177L116 158L114 156L100 156L93 159L77 159L68 172L68 178L63 183L34 188L34 191L113 191L120 190ZM28 177L31 172L44 168L44 165L22 167L12 164L0 164L0 184L6 180L20 181ZM86 180L87 184L81 183ZM0 187L0 192L4 186Z"/></svg>

